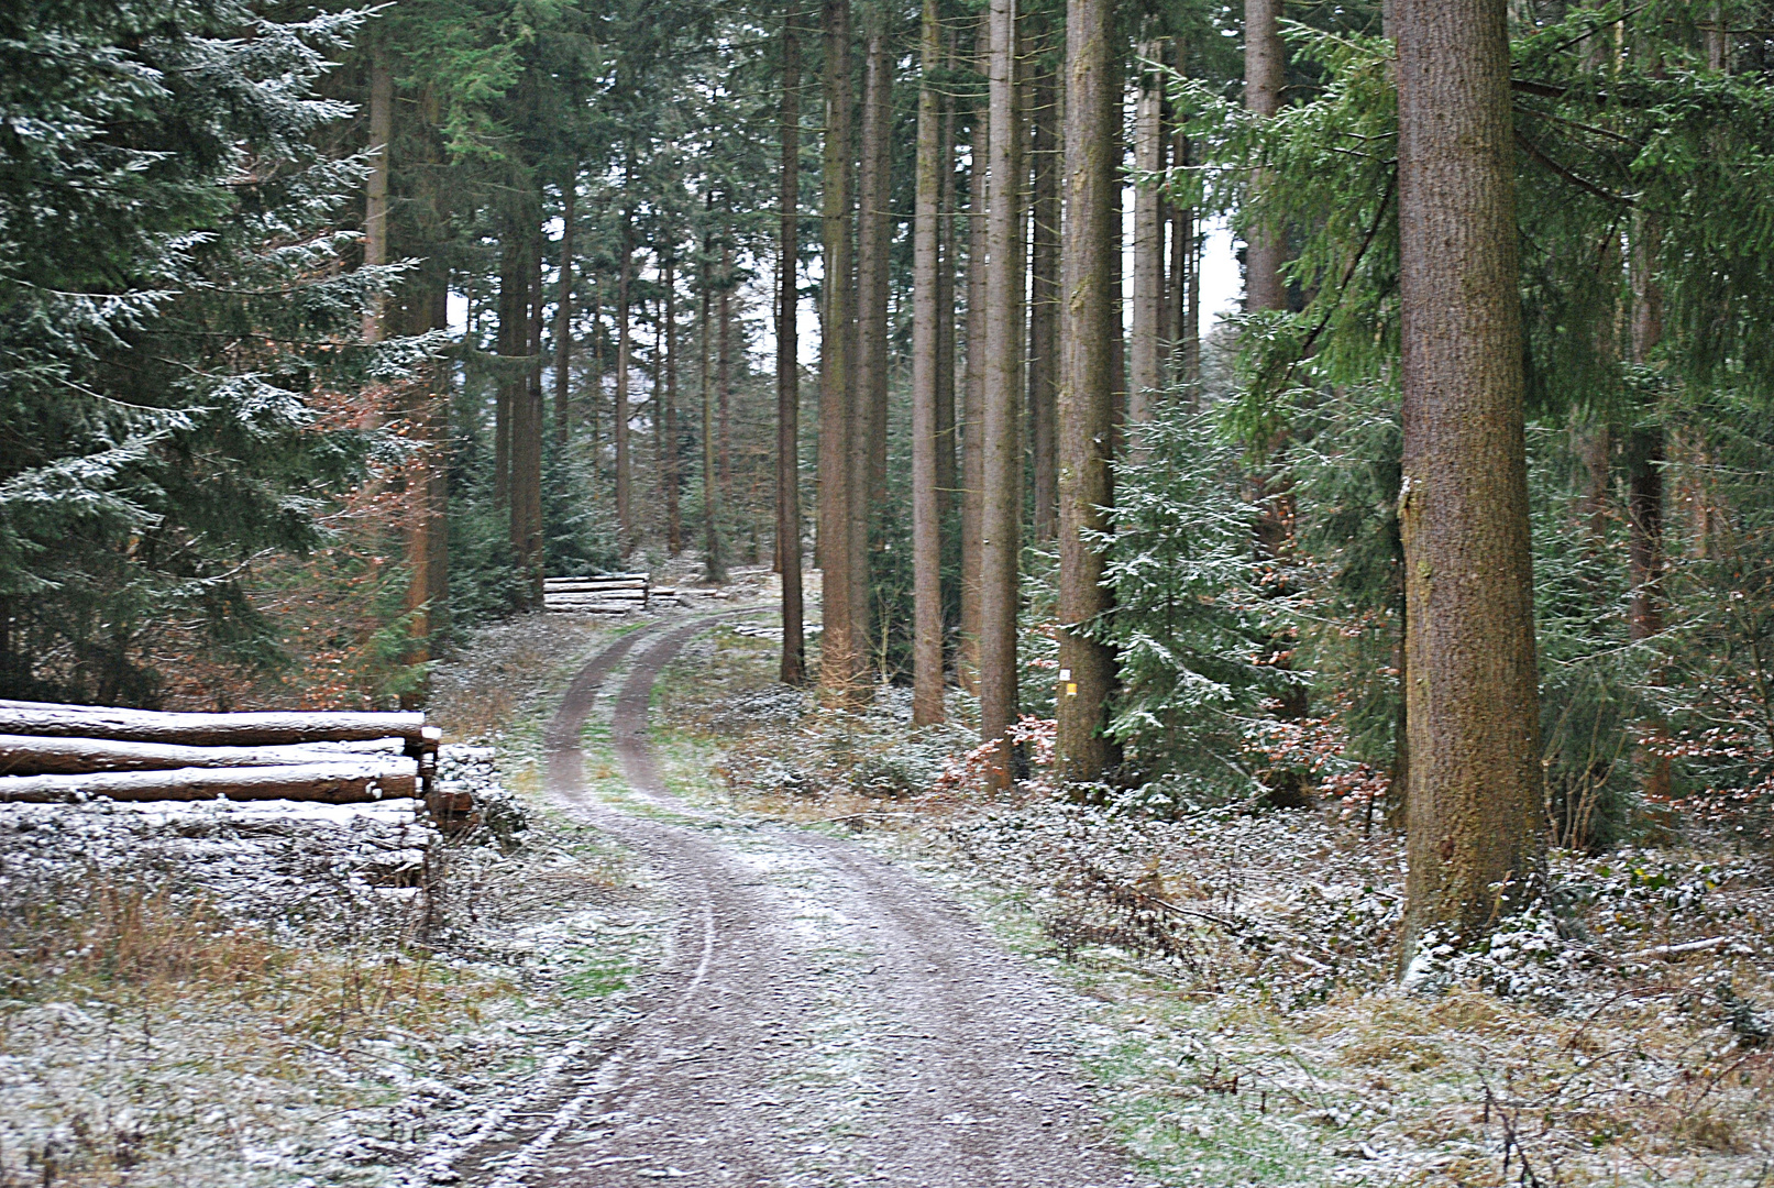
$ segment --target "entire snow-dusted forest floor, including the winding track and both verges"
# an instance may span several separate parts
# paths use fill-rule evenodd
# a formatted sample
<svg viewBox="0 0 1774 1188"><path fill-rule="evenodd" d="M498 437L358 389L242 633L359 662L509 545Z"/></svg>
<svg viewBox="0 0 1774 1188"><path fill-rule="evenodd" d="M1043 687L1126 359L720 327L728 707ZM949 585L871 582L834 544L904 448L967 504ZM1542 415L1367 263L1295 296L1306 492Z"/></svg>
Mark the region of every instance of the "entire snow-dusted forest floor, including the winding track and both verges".
<svg viewBox="0 0 1774 1188"><path fill-rule="evenodd" d="M1765 856L1559 855L1400 989L1336 805L986 798L692 601L438 674L463 839L0 809L0 1186L1774 1184Z"/></svg>

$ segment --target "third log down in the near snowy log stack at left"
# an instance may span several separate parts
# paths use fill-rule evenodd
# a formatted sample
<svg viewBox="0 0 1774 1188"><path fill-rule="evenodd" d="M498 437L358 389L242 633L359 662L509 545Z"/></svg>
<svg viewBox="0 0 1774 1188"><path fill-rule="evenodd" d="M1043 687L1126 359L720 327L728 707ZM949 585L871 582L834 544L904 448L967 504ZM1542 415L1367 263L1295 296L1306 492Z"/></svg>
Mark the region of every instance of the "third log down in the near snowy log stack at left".
<svg viewBox="0 0 1774 1188"><path fill-rule="evenodd" d="M309 762L286 768L177 768L94 775L0 777L0 803L110 800L310 800L355 805L412 798L419 777L374 762Z"/></svg>

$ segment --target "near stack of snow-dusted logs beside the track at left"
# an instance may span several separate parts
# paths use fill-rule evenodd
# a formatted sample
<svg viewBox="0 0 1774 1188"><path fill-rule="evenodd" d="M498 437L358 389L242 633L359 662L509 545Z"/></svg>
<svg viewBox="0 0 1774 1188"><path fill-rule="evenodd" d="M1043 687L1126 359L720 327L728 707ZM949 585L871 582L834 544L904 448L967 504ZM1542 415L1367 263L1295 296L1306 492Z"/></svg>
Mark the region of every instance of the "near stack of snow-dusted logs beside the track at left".
<svg viewBox="0 0 1774 1188"><path fill-rule="evenodd" d="M424 796L442 732L422 713L154 713L0 700L0 803Z"/></svg>

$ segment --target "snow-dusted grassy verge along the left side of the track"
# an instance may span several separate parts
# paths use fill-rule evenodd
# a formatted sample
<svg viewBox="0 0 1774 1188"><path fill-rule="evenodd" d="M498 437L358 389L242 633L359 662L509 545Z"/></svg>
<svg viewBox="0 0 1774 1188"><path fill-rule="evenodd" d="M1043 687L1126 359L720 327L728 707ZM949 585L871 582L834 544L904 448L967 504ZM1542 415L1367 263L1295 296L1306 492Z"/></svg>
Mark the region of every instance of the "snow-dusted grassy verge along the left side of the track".
<svg viewBox="0 0 1774 1188"><path fill-rule="evenodd" d="M630 855L522 791L612 635L536 615L438 674L461 839L412 801L0 807L0 1184L447 1183L546 1101L660 959Z"/></svg>

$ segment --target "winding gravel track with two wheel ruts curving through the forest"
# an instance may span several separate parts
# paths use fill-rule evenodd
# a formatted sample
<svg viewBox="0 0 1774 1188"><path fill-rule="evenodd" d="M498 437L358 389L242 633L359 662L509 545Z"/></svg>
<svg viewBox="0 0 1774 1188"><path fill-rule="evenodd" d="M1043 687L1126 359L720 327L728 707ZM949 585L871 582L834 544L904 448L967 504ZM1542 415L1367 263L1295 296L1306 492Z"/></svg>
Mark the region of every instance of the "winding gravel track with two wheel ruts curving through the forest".
<svg viewBox="0 0 1774 1188"><path fill-rule="evenodd" d="M617 640L548 727L550 794L639 851L676 906L672 943L648 1009L468 1183L1135 1183L1095 1133L1061 997L954 903L850 842L665 791L653 684L717 621ZM635 649L612 722L630 798L612 803L585 789L578 736Z"/></svg>

